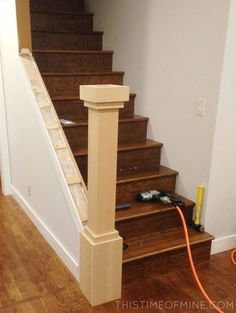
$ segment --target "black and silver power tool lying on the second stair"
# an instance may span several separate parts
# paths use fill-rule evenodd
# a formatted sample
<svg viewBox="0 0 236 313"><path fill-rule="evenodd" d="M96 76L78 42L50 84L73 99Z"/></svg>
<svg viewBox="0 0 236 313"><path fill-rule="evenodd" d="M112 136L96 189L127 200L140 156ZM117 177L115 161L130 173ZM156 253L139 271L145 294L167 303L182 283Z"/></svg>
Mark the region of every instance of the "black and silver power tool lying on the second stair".
<svg viewBox="0 0 236 313"><path fill-rule="evenodd" d="M161 202L163 204L173 204L181 208L185 207L185 204L183 201L181 201L175 195L170 194L169 192L166 192L166 191L158 191L158 190L143 191L143 192L138 193L136 198L140 202L156 201L156 202Z"/></svg>

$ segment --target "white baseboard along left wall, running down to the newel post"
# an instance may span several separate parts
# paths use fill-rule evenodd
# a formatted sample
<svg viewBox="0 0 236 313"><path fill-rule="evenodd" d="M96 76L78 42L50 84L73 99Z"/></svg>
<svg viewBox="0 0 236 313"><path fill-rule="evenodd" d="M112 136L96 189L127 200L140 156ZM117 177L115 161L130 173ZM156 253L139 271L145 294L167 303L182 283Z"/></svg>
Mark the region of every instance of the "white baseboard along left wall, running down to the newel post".
<svg viewBox="0 0 236 313"><path fill-rule="evenodd" d="M22 197L20 192L11 186L12 196L19 203L24 212L28 215L34 225L37 227L39 232L43 235L46 241L50 244L56 254L60 257L66 267L70 270L73 276L79 280L79 264L77 261L69 254L66 248L59 242L59 240L54 236L54 234L48 229L40 217L34 212L33 208L29 203Z"/></svg>

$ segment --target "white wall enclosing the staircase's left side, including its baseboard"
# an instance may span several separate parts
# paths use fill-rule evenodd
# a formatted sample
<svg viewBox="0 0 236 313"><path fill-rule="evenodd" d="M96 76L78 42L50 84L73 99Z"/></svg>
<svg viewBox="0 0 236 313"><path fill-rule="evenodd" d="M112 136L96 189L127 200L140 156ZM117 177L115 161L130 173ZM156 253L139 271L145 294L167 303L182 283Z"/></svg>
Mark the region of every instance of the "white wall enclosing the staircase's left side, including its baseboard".
<svg viewBox="0 0 236 313"><path fill-rule="evenodd" d="M0 2L0 31L12 192L77 275L82 225L79 218L73 218L76 213L70 194L30 97L30 84L18 55L14 0Z"/></svg>

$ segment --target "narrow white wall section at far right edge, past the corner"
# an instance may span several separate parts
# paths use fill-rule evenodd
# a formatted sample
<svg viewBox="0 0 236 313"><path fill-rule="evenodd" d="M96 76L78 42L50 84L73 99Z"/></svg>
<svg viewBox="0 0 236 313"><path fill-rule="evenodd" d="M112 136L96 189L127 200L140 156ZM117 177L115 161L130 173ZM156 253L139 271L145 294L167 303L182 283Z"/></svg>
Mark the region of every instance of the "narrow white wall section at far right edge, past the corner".
<svg viewBox="0 0 236 313"><path fill-rule="evenodd" d="M206 225L213 252L236 247L236 1L231 1L216 119Z"/></svg>

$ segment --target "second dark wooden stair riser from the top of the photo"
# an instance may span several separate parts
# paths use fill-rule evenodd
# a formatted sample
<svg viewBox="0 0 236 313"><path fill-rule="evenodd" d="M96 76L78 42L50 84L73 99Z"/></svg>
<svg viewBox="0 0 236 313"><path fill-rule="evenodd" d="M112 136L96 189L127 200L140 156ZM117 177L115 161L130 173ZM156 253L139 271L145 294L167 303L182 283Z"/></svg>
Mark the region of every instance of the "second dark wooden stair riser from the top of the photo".
<svg viewBox="0 0 236 313"><path fill-rule="evenodd" d="M31 29L33 31L91 32L93 15L31 13Z"/></svg>

